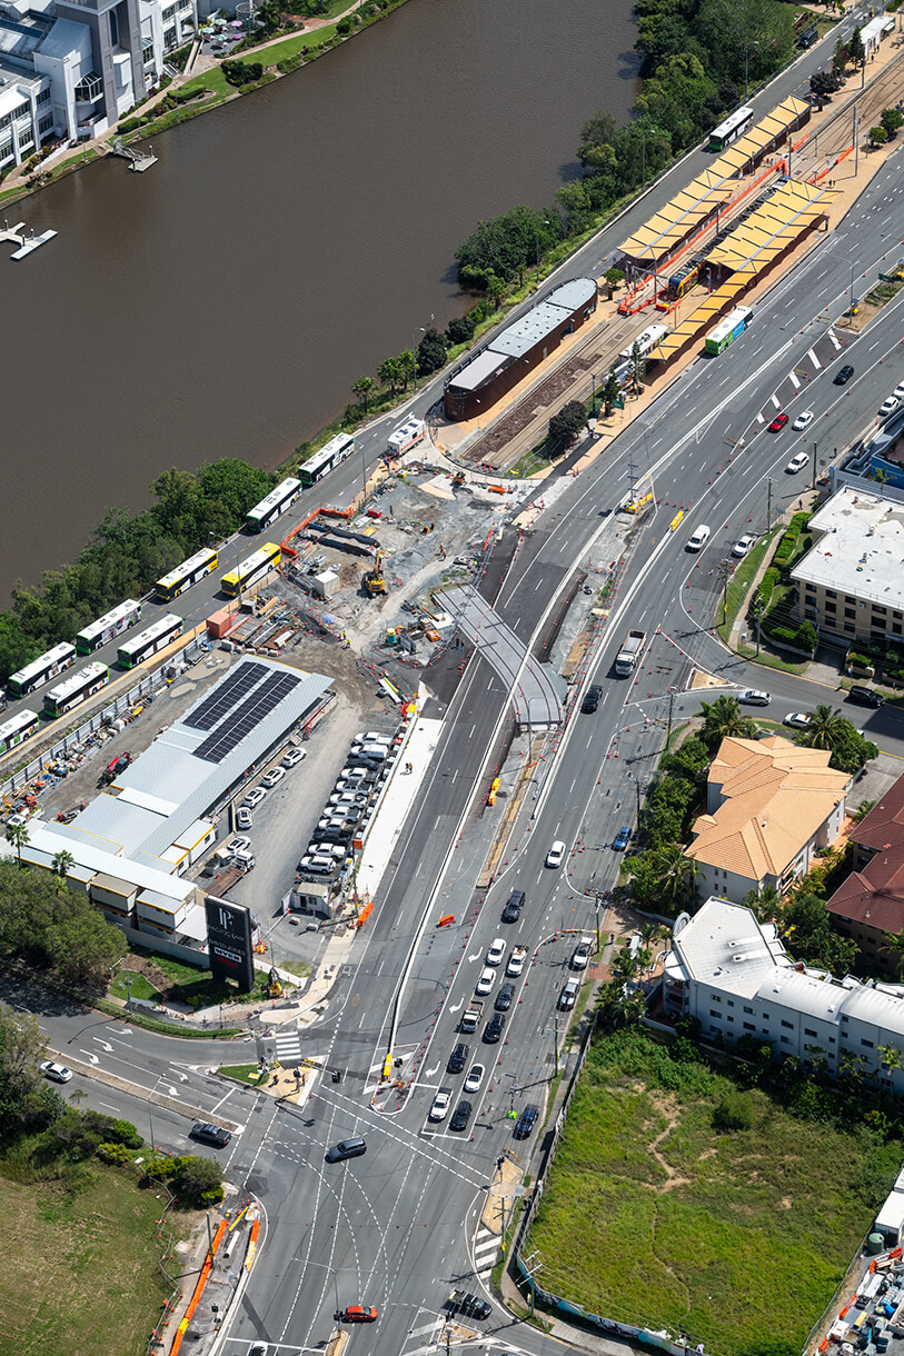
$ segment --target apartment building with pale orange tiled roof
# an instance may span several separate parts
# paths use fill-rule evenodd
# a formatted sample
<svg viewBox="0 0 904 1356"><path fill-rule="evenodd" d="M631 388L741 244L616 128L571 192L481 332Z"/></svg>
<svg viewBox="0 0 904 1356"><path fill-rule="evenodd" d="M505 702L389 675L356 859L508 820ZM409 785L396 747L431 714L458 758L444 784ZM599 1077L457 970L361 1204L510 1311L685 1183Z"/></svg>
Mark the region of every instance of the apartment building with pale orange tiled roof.
<svg viewBox="0 0 904 1356"><path fill-rule="evenodd" d="M785 892L844 822L847 773L828 766L825 749L790 739L723 739L710 765L706 814L694 823L684 856L698 888L740 903L752 890Z"/></svg>

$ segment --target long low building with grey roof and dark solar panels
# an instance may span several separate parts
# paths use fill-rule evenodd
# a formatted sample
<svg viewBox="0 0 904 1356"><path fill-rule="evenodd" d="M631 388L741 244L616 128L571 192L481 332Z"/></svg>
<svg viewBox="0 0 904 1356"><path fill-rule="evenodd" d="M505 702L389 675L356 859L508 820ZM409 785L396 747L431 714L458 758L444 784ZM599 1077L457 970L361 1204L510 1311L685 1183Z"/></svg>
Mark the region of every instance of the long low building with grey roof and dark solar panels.
<svg viewBox="0 0 904 1356"><path fill-rule="evenodd" d="M68 887L87 892L129 941L197 961L206 949L204 888L187 872L216 842L229 801L331 696L320 674L242 659L76 819L30 820L22 860L53 871L67 853ZM0 852L15 854L7 839Z"/></svg>

